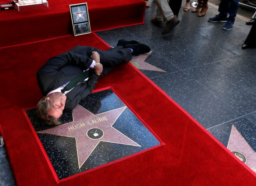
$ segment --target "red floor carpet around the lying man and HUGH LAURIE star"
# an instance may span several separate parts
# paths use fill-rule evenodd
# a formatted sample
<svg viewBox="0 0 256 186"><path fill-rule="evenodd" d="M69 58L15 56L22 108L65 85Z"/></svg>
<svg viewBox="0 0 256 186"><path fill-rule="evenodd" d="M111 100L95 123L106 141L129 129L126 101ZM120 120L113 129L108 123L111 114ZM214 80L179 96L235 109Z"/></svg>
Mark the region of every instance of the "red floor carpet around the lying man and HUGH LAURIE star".
<svg viewBox="0 0 256 186"><path fill-rule="evenodd" d="M89 34L1 49L0 77L5 91L0 93L0 123L18 185L256 184L249 168L130 63L100 79L96 89L113 87L166 145L58 181L22 108L35 106L42 96L35 78L39 67L75 45L108 48ZM15 55L10 60L12 51Z"/></svg>

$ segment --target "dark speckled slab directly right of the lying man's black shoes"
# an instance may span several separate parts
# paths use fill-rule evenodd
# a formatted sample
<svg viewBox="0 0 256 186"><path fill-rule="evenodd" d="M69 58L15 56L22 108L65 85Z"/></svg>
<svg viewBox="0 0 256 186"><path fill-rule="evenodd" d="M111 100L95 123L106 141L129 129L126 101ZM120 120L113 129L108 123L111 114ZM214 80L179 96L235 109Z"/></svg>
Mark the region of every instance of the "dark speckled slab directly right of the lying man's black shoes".
<svg viewBox="0 0 256 186"><path fill-rule="evenodd" d="M235 54L226 49L221 41L199 39L198 33L175 33L141 40L158 51L162 57L169 60L179 69L187 69L219 60L233 57ZM202 36L200 36L202 37ZM196 46L196 47L195 47Z"/></svg>

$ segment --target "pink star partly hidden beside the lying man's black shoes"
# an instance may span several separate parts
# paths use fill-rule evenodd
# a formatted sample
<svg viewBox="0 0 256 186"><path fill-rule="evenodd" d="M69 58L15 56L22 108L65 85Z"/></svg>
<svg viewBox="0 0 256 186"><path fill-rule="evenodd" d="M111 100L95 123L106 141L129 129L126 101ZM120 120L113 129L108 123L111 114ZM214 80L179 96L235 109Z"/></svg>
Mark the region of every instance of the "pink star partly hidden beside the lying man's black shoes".
<svg viewBox="0 0 256 186"><path fill-rule="evenodd" d="M130 63L133 64L137 69L140 69L140 70L166 72L162 69L159 69L156 66L153 66L153 65L145 62L145 60L149 57L149 55L151 53L152 53L152 50L149 53L140 54L139 56L133 56Z"/></svg>

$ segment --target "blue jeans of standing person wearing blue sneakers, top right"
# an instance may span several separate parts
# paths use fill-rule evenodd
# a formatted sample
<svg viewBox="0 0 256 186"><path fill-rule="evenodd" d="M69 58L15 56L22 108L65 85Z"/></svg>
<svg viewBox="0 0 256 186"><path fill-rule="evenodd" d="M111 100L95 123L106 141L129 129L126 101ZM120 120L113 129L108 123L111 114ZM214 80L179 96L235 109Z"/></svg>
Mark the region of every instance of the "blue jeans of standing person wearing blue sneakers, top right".
<svg viewBox="0 0 256 186"><path fill-rule="evenodd" d="M229 14L228 20L235 21L238 6L239 0L221 0L218 11L223 18L227 18L227 14Z"/></svg>

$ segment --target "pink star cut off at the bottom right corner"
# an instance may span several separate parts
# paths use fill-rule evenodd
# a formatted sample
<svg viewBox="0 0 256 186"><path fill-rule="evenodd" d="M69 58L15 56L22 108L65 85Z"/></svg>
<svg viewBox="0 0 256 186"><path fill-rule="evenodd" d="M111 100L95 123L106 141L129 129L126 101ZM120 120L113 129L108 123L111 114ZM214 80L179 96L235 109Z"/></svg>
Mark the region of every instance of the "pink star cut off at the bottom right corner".
<svg viewBox="0 0 256 186"><path fill-rule="evenodd" d="M249 168L254 172L256 172L256 152L254 152L250 145L245 141L243 136L237 131L234 125L232 125L227 148L228 150L233 151L235 156L241 161L243 157L239 157L239 154L242 154L242 156L246 158L245 164L248 165Z"/></svg>

